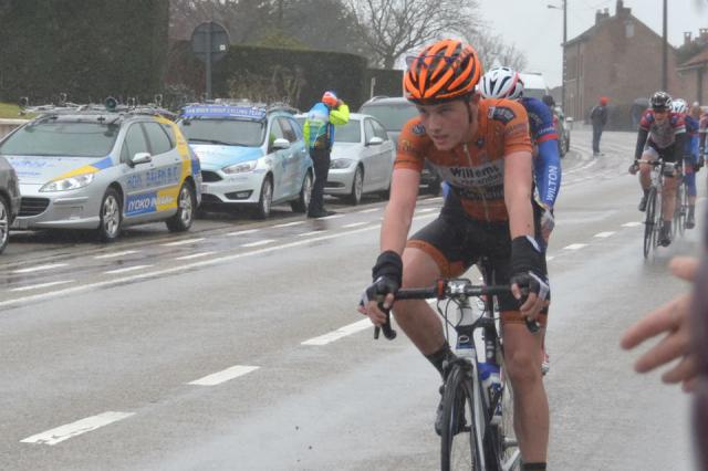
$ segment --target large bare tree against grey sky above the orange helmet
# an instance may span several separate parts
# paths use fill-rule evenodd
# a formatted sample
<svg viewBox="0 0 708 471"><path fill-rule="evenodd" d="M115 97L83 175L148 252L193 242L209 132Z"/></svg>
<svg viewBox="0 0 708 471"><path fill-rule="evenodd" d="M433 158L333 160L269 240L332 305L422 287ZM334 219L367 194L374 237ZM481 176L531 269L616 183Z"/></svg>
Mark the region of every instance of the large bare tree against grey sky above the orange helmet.
<svg viewBox="0 0 708 471"><path fill-rule="evenodd" d="M396 60L444 35L469 36L477 28L476 0L347 0L373 64Z"/></svg>

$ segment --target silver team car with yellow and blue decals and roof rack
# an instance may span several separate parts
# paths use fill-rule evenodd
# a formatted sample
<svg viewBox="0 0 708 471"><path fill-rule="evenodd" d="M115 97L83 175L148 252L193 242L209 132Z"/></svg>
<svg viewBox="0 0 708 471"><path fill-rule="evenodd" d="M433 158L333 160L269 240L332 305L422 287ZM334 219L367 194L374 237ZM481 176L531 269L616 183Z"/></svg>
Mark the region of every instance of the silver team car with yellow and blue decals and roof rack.
<svg viewBox="0 0 708 471"><path fill-rule="evenodd" d="M0 140L22 195L13 229L95 229L110 242L129 224L190 228L201 200L199 159L166 113L115 106L42 113Z"/></svg>

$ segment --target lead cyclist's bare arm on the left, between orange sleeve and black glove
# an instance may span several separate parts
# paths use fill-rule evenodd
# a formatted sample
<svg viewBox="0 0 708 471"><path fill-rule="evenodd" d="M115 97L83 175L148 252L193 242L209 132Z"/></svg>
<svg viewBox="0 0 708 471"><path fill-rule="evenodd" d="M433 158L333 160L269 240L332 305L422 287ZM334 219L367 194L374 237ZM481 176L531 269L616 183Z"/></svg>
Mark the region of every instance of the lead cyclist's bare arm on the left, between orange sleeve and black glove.
<svg viewBox="0 0 708 471"><path fill-rule="evenodd" d="M393 250L399 255L403 254L413 221L413 212L416 209L419 184L420 172L407 168L394 170L391 181L391 197L381 226L382 252Z"/></svg>

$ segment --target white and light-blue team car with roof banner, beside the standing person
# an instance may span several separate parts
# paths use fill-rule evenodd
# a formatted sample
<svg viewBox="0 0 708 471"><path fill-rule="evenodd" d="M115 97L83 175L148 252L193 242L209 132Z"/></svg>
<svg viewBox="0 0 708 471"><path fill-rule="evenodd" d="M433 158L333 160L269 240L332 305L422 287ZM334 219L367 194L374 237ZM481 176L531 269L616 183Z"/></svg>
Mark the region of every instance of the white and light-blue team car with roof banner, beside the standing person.
<svg viewBox="0 0 708 471"><path fill-rule="evenodd" d="M183 109L179 126L201 163L205 208L250 208L260 219L277 203L289 202L296 212L308 210L312 159L291 113L243 104L195 104Z"/></svg>

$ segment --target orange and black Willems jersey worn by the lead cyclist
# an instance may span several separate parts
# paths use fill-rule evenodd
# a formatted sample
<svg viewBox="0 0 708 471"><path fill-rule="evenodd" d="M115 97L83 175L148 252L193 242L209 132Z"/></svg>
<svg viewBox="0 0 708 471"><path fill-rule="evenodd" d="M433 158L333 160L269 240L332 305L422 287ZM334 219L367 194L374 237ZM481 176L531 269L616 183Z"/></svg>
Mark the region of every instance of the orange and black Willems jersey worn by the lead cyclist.
<svg viewBox="0 0 708 471"><path fill-rule="evenodd" d="M503 158L517 151L531 153L527 112L510 100L480 100L478 122L477 134L470 142L438 150L420 118L408 121L398 138L394 169L423 171L428 159L441 179L450 184L470 218L507 221Z"/></svg>

